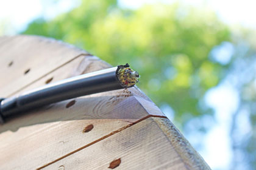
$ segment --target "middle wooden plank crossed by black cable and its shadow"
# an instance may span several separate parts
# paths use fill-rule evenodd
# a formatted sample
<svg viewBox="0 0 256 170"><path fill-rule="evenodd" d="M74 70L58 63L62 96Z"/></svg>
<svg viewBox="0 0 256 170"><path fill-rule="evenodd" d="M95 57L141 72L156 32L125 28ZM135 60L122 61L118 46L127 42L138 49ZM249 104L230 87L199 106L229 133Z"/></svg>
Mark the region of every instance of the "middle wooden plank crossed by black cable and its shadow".
<svg viewBox="0 0 256 170"><path fill-rule="evenodd" d="M52 83L81 73L104 69L104 67L109 65L95 56L79 56L20 92L42 86L51 79ZM137 92L137 97L134 97L129 90L115 90L88 95L76 98L76 103L69 108L66 106L73 100L52 104L50 107L7 121L0 126L0 152L2 153L0 160L4 162L0 163L0 169L36 168L148 116L148 112L137 100L141 98L138 94ZM82 127L77 127L80 120L82 120L80 124L84 126L94 124L94 127L100 128L94 128L95 133L87 135L83 140ZM43 140L43 143L38 140ZM69 142L66 143L66 141ZM30 151L29 155L27 151ZM52 151L51 154L49 151ZM31 157L34 161L29 161ZM27 163L24 164L24 162Z"/></svg>

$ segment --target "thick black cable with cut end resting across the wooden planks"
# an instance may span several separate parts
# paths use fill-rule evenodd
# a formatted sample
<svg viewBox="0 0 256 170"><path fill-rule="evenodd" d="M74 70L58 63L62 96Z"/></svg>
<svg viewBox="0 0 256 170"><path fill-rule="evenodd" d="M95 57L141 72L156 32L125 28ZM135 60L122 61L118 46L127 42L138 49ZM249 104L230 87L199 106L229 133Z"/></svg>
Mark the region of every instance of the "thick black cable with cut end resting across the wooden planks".
<svg viewBox="0 0 256 170"><path fill-rule="evenodd" d="M138 73L126 64L51 83L14 97L0 98L0 123L4 122L4 118L36 107L83 95L132 87L137 83L138 77Z"/></svg>

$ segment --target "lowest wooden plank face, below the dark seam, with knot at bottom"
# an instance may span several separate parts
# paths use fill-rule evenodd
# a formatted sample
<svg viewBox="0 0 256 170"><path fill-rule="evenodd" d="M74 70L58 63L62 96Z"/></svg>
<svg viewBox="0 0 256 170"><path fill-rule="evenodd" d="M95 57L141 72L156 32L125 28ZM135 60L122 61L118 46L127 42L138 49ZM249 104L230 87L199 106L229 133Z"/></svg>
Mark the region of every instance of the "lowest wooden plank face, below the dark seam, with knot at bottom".
<svg viewBox="0 0 256 170"><path fill-rule="evenodd" d="M115 169L188 169L152 118L119 131L43 169L108 169L110 163L119 158L121 162Z"/></svg>

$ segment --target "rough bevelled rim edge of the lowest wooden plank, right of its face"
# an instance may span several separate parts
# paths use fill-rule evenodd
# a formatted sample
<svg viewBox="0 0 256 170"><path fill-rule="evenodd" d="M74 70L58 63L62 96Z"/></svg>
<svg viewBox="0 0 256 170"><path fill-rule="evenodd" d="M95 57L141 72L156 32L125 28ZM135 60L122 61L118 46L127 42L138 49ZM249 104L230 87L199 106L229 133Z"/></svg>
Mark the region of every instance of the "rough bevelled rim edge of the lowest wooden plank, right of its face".
<svg viewBox="0 0 256 170"><path fill-rule="evenodd" d="M194 150L188 140L182 135L179 129L168 120L168 118L154 118L154 120L169 139L188 169L210 169L210 166L207 165L204 158Z"/></svg>

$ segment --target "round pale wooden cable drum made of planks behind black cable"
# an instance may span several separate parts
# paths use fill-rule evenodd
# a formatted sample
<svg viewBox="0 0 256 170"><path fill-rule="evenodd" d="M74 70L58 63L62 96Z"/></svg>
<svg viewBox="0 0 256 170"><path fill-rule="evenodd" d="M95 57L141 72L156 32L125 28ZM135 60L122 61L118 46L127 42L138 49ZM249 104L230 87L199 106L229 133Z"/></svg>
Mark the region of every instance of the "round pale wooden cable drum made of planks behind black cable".
<svg viewBox="0 0 256 170"><path fill-rule="evenodd" d="M0 38L0 97L109 64L41 36ZM72 98L0 125L0 169L210 169L136 86Z"/></svg>

